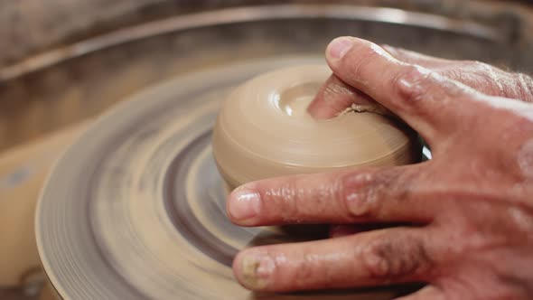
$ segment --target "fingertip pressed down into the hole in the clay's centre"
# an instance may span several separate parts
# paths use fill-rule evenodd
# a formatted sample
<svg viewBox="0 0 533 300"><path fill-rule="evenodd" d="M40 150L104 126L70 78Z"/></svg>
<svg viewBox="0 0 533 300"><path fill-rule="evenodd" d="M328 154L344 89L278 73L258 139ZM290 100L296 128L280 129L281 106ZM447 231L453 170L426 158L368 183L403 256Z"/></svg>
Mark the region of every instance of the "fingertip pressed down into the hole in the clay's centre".
<svg viewBox="0 0 533 300"><path fill-rule="evenodd" d="M307 111L318 119L335 117L352 104L374 107L379 104L368 95L344 83L337 76L330 76L318 90Z"/></svg>

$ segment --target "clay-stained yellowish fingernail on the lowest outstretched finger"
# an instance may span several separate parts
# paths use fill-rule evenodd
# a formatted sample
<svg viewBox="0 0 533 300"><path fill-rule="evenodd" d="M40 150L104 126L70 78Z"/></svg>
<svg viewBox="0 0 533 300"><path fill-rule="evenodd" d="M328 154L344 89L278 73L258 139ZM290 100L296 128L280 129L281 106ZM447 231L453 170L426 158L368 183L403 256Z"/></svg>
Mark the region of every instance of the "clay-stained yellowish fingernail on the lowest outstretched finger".
<svg viewBox="0 0 533 300"><path fill-rule="evenodd" d="M241 262L241 283L249 289L264 289L275 267L274 259L267 255L245 254Z"/></svg>

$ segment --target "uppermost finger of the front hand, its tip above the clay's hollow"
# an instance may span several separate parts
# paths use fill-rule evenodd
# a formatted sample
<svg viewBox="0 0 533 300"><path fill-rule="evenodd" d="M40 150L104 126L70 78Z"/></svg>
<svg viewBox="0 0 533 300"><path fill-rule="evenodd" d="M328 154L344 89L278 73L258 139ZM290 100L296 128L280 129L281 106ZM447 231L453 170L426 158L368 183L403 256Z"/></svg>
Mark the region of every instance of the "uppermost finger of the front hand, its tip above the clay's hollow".
<svg viewBox="0 0 533 300"><path fill-rule="evenodd" d="M372 42L353 37L331 42L326 58L337 77L404 119L430 145L459 129L457 124L462 122L456 99L463 98L461 111L469 111L464 109L465 102L476 93L434 71L398 61Z"/></svg>

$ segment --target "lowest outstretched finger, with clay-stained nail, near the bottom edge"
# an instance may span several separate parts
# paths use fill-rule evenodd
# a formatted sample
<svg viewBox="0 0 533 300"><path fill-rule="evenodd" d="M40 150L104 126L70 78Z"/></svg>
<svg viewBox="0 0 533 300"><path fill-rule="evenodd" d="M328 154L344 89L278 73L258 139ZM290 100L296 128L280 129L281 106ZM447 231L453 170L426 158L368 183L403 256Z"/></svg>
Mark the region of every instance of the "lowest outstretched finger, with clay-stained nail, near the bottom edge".
<svg viewBox="0 0 533 300"><path fill-rule="evenodd" d="M429 239L424 229L396 228L249 248L233 271L241 285L263 291L424 282L435 264Z"/></svg>

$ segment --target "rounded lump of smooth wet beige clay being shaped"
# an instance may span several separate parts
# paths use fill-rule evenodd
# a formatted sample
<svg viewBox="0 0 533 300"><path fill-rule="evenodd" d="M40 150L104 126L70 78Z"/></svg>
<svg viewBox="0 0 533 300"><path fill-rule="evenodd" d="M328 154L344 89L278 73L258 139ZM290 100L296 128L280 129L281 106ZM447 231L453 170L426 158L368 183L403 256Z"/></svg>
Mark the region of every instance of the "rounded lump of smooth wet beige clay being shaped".
<svg viewBox="0 0 533 300"><path fill-rule="evenodd" d="M417 137L383 109L348 108L316 120L306 108L331 74L305 65L259 75L226 99L213 133L213 155L229 188L295 173L420 160Z"/></svg>

